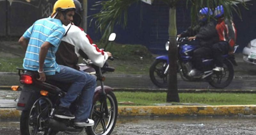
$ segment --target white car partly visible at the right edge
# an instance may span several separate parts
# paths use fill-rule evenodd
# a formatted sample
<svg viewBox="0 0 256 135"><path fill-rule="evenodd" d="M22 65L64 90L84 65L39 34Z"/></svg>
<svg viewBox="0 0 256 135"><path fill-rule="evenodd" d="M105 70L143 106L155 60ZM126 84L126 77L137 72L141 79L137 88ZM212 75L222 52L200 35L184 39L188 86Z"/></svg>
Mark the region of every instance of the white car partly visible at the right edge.
<svg viewBox="0 0 256 135"><path fill-rule="evenodd" d="M243 59L247 63L256 64L256 39L250 41L243 49Z"/></svg>

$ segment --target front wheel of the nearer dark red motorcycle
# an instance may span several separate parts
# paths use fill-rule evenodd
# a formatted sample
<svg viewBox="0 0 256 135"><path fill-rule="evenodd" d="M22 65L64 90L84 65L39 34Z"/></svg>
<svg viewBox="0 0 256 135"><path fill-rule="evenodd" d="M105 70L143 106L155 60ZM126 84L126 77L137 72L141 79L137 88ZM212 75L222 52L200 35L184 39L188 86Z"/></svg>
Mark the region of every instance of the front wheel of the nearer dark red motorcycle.
<svg viewBox="0 0 256 135"><path fill-rule="evenodd" d="M107 94L108 115L104 108L103 101L96 101L92 107L90 118L94 120L94 125L86 127L88 135L110 135L113 131L117 119L117 101L113 92Z"/></svg>

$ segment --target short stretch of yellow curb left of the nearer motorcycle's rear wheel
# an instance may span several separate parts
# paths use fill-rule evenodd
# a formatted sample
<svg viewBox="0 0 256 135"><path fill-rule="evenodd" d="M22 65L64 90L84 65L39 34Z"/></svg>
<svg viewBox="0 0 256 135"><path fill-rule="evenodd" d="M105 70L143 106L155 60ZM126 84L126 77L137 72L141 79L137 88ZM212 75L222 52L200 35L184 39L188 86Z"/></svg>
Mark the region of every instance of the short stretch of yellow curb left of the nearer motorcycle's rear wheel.
<svg viewBox="0 0 256 135"><path fill-rule="evenodd" d="M13 108L0 109L0 119L19 118L21 111Z"/></svg>

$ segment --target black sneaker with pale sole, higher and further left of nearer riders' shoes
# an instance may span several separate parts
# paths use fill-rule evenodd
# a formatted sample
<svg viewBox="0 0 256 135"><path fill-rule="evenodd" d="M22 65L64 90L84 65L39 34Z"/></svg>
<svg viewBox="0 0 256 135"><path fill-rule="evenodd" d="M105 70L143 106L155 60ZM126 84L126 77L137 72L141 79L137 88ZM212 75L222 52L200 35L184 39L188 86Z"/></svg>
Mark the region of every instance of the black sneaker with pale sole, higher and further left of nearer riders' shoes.
<svg viewBox="0 0 256 135"><path fill-rule="evenodd" d="M57 110L55 112L55 117L61 118L61 119L74 119L75 116L68 110L68 108L58 106Z"/></svg>

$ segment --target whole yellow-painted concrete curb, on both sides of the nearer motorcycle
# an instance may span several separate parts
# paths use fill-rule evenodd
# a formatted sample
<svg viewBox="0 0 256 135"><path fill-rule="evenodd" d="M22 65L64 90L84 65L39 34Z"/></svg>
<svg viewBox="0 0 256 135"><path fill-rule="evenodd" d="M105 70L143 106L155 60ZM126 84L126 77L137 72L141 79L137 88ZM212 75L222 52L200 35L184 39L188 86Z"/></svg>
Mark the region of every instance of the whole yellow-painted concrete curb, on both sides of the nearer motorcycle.
<svg viewBox="0 0 256 135"><path fill-rule="evenodd" d="M15 108L0 109L0 119L19 118ZM223 106L120 106L118 116L243 116L256 115L256 105Z"/></svg>

